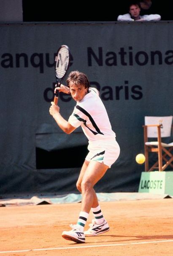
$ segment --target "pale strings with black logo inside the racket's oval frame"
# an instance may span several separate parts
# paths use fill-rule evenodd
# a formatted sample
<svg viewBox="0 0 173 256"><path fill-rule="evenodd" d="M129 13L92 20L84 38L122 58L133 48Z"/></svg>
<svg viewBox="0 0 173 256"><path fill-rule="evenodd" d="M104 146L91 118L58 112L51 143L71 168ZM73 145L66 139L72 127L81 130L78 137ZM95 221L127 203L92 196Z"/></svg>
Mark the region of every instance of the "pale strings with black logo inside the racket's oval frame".
<svg viewBox="0 0 173 256"><path fill-rule="evenodd" d="M69 51L66 47L61 47L55 57L55 72L57 78L62 78L68 69Z"/></svg>

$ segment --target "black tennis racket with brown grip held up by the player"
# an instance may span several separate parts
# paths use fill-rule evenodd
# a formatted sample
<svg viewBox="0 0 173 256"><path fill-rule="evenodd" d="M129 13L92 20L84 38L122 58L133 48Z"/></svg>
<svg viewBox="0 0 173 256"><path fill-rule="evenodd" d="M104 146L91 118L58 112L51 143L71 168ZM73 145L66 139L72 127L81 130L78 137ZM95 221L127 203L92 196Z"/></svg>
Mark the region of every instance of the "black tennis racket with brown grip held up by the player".
<svg viewBox="0 0 173 256"><path fill-rule="evenodd" d="M55 62L54 62L54 68L55 68L55 75L57 79L57 84L55 87L59 87L62 83L62 80L64 79L68 67L70 64L70 50L67 45L61 45L59 47L57 54L55 56ZM58 81L60 79L60 81ZM54 103L57 105L58 103L58 95L59 91L56 90L56 93L54 93Z"/></svg>

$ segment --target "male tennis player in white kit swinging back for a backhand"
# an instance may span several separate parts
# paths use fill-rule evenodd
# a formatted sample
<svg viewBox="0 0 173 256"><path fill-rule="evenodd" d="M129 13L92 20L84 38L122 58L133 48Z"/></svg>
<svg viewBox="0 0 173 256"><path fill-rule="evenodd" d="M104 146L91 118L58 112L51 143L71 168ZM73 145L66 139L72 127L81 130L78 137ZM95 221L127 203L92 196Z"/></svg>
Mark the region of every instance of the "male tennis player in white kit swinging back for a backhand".
<svg viewBox="0 0 173 256"><path fill-rule="evenodd" d="M111 128L105 106L99 97L99 92L97 89L89 87L87 75L78 71L70 72L67 86L61 84L55 90L67 94L71 93L76 101L76 106L68 121L59 113L59 106L51 102L49 112L57 125L67 134L81 126L89 141L89 153L76 184L77 189L82 194L81 211L76 225L70 225L72 230L62 232L64 239L83 243L85 236L97 236L109 231L109 225L103 217L93 187L118 159L120 148L116 142L116 135ZM89 225L90 228L84 231L90 210L94 214L94 220Z"/></svg>

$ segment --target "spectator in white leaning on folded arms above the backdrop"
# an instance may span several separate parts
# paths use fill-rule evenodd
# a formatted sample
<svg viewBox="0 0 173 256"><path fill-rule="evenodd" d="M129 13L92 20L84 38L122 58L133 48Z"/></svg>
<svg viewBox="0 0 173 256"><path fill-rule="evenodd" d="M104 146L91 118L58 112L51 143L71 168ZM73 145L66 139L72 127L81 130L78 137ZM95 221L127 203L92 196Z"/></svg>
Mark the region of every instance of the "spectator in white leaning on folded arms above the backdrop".
<svg viewBox="0 0 173 256"><path fill-rule="evenodd" d="M140 15L141 5L139 2L130 3L129 13L119 15L118 21L159 21L161 16L159 14Z"/></svg>

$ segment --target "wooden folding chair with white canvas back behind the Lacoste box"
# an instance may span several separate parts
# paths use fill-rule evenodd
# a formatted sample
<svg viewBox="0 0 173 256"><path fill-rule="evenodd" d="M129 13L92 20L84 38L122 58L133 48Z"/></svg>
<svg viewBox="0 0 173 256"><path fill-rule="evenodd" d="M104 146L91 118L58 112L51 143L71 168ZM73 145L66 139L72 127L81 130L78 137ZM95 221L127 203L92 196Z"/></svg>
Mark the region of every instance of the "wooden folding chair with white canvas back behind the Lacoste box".
<svg viewBox="0 0 173 256"><path fill-rule="evenodd" d="M164 171L168 166L173 167L173 137L171 138L171 130L173 133L172 122L173 116L145 117L143 134L146 172L153 170ZM164 142L163 138L167 141ZM157 153L157 161L150 168L149 153Z"/></svg>

